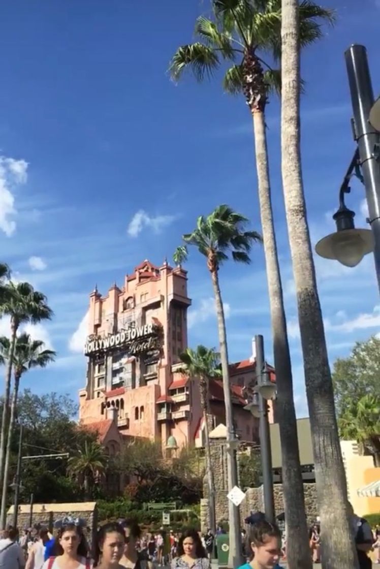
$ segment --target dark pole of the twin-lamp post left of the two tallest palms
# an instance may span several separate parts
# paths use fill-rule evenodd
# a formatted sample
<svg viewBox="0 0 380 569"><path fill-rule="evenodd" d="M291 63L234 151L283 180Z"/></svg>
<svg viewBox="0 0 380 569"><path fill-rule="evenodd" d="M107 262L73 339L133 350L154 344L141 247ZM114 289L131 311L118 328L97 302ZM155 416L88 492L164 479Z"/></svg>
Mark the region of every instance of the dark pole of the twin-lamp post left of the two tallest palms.
<svg viewBox="0 0 380 569"><path fill-rule="evenodd" d="M257 384L261 385L263 372L265 370L264 342L261 335L255 336L256 346L256 374ZM271 523L275 522L274 495L273 495L273 475L272 475L272 455L269 432L268 404L259 391L259 436L261 466L263 471L263 493L265 517Z"/></svg>

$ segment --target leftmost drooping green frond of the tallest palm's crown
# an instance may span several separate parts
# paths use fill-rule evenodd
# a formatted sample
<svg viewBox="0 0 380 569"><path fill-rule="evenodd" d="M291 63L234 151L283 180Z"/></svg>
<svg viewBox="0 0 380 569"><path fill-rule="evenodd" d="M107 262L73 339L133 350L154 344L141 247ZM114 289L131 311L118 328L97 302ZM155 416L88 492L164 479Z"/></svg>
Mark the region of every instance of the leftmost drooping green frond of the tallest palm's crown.
<svg viewBox="0 0 380 569"><path fill-rule="evenodd" d="M177 81L189 69L197 81L203 81L205 75L212 76L219 64L217 53L212 47L196 42L177 49L170 62L169 72L172 79Z"/></svg>

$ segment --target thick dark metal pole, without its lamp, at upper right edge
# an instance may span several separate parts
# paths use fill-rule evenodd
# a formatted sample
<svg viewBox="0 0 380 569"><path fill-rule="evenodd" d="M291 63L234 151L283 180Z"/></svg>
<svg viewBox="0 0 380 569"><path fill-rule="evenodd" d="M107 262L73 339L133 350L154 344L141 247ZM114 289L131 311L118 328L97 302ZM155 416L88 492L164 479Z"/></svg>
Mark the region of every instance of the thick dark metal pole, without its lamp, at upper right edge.
<svg viewBox="0 0 380 569"><path fill-rule="evenodd" d="M345 60L354 116L354 131L365 184L369 222L375 243L375 268L380 290L380 134L369 122L374 97L366 48L357 44L350 46L345 52Z"/></svg>

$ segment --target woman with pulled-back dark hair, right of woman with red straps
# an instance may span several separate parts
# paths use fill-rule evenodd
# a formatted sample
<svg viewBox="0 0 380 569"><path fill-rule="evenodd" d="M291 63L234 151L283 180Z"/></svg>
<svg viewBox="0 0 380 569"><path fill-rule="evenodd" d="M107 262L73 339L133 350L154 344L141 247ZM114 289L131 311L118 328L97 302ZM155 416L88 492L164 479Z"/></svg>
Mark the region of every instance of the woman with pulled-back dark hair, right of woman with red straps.
<svg viewBox="0 0 380 569"><path fill-rule="evenodd" d="M94 567L121 569L120 559L125 547L125 534L119 523L106 523L96 535Z"/></svg>

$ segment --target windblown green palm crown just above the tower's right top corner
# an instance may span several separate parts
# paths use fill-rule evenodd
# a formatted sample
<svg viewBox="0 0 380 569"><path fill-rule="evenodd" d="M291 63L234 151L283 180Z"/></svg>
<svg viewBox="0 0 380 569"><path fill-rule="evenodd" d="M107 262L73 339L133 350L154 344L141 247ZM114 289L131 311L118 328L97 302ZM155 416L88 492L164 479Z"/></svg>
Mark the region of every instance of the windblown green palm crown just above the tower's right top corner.
<svg viewBox="0 0 380 569"><path fill-rule="evenodd" d="M230 252L234 261L249 263L249 252L253 241L261 241L255 231L246 231L248 219L241 213L234 212L228 205L218 205L207 217L200 216L196 229L183 235L188 245L195 245L207 258L208 269L214 273L228 259ZM177 254L185 258L187 249L184 245L177 248Z"/></svg>

